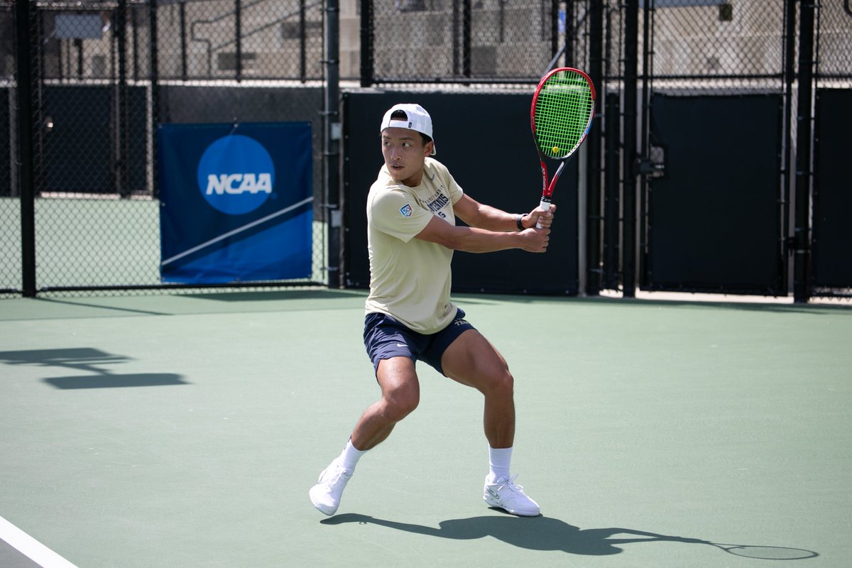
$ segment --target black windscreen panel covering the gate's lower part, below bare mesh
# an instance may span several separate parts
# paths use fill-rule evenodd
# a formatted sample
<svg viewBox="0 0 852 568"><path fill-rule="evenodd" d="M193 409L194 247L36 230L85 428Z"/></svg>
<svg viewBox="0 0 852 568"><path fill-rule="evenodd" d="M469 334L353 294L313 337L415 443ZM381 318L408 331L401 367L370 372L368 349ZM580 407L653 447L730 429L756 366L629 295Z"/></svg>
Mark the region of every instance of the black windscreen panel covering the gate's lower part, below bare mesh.
<svg viewBox="0 0 852 568"><path fill-rule="evenodd" d="M642 288L786 294L780 95L654 92ZM688 124L689 128L683 128Z"/></svg>

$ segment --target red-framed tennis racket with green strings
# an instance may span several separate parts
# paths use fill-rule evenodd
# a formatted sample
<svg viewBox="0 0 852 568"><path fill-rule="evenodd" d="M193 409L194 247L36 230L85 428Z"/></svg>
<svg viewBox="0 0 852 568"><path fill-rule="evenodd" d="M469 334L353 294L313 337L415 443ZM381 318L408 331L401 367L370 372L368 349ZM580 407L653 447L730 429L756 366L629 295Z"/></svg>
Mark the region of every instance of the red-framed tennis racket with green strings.
<svg viewBox="0 0 852 568"><path fill-rule="evenodd" d="M542 210L550 210L556 180L568 158L589 134L594 115L595 85L584 72L571 67L559 67L545 74L538 82L533 94L533 105L530 106L530 126L541 162ZM550 183L544 158L561 160ZM541 228L541 220L536 227Z"/></svg>

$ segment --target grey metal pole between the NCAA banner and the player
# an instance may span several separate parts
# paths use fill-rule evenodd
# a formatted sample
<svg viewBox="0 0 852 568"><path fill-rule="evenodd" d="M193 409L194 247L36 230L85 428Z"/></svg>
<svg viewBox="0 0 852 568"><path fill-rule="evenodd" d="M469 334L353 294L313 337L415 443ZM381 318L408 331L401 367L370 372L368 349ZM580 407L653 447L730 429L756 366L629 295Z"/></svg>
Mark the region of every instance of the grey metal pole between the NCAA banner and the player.
<svg viewBox="0 0 852 568"><path fill-rule="evenodd" d="M340 210L340 8L339 0L325 2L325 219L328 227L328 286L341 286Z"/></svg>

